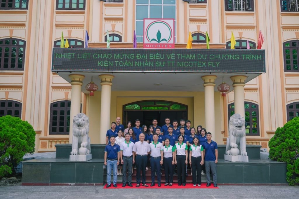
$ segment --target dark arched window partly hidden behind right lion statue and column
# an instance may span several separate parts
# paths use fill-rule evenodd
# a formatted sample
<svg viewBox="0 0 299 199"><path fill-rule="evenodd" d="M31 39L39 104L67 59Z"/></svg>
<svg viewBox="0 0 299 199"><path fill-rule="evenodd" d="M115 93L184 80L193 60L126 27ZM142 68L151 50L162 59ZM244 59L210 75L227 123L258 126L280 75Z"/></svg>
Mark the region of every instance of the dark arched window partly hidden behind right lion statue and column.
<svg viewBox="0 0 299 199"><path fill-rule="evenodd" d="M245 104L249 104L249 108L245 108ZM252 105L254 105L256 108L252 108ZM235 108L231 108L232 106L234 106L234 102L228 105L228 124L229 124L229 120L231 118L231 113L232 111L234 112ZM248 126L246 125L246 123L248 123L248 121L246 122L246 117L249 117L249 133L246 133L246 136L260 136L260 119L259 119L259 105L255 104L253 102L244 102L244 109L245 109L245 115L246 115L246 111L249 112L249 116L245 116L245 128ZM256 111L256 116L252 116L252 112ZM253 121L252 121L252 117L256 117L257 121L256 121L256 127L253 127ZM253 133L252 129L256 128L257 133Z"/></svg>

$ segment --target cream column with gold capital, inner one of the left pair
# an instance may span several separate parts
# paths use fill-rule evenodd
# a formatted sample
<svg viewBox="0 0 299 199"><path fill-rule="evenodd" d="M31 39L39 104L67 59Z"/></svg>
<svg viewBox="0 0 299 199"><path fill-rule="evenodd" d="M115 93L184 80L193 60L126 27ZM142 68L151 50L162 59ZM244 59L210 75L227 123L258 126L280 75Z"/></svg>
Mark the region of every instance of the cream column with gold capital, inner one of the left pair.
<svg viewBox="0 0 299 199"><path fill-rule="evenodd" d="M99 75L101 79L100 144L106 144L106 132L110 128L111 86L113 75Z"/></svg>

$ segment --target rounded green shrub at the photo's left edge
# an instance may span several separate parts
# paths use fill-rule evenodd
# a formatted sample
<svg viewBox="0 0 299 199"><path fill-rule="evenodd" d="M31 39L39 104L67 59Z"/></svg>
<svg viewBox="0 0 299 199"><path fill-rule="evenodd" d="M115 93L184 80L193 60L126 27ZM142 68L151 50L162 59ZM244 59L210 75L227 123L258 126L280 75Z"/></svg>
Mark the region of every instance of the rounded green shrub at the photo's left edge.
<svg viewBox="0 0 299 199"><path fill-rule="evenodd" d="M18 163L34 152L35 131L27 122L10 115L0 117L0 178L16 174Z"/></svg>

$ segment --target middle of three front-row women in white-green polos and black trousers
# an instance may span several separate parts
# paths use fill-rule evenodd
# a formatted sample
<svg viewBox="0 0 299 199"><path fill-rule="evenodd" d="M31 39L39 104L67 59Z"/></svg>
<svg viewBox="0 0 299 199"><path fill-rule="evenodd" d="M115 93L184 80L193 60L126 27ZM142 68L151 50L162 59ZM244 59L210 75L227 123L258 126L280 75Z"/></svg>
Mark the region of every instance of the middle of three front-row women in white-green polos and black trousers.
<svg viewBox="0 0 299 199"><path fill-rule="evenodd" d="M188 146L183 143L184 137L180 134L178 143L174 145L175 163L178 168L178 185L186 186L186 165L188 163Z"/></svg>

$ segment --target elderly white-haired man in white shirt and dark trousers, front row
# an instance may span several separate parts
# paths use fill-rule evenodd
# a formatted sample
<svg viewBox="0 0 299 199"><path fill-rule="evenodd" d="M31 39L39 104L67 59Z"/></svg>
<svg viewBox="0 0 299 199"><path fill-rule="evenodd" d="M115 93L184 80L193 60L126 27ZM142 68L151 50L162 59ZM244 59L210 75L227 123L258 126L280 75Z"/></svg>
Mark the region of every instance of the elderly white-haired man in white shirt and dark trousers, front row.
<svg viewBox="0 0 299 199"><path fill-rule="evenodd" d="M140 133L139 134L139 141L136 142L133 146L133 156L136 156L135 163L136 163L136 181L137 185L136 187L140 186L140 172L142 171L142 186L148 186L146 182L145 177L145 169L147 166L147 154L149 154L149 143L144 141L145 134Z"/></svg>

